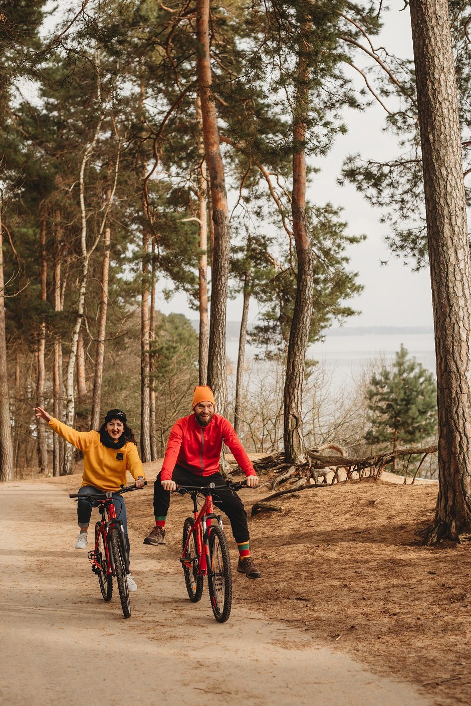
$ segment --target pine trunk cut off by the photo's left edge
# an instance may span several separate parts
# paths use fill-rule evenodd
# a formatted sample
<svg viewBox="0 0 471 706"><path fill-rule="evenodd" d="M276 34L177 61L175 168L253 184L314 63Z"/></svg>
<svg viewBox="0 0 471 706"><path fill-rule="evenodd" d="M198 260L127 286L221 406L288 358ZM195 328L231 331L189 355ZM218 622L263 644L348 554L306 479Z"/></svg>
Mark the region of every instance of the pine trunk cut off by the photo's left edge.
<svg viewBox="0 0 471 706"><path fill-rule="evenodd" d="M5 283L3 225L0 211L0 480L13 480L13 442L11 439L10 396L6 369Z"/></svg>

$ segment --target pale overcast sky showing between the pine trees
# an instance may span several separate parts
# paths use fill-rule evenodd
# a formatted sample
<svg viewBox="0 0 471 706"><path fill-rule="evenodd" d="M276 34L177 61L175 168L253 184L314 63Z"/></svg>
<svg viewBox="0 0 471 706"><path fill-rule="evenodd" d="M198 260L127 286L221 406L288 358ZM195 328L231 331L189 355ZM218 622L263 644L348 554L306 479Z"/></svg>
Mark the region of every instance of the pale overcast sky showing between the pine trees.
<svg viewBox="0 0 471 706"><path fill-rule="evenodd" d="M400 56L412 56L410 16L408 9L400 11L403 6L403 1L393 0L386 28L374 44L377 47L391 47L391 51ZM358 279L365 289L350 300L350 304L361 313L350 318L346 325L432 325L429 270L412 273L410 268L391 256L384 243L388 227L379 222L379 210L371 208L353 186L338 186L336 183L343 159L350 153L360 152L363 157L391 157L398 153L395 139L382 131L384 115L384 110L379 106L362 113L348 113L345 118L348 134L338 137L329 157L319 164L322 171L312 181L309 198L318 204L331 201L334 205L343 206L350 232L367 235L364 242L351 246L349 250L351 269L359 273ZM388 261L388 265L381 266L381 261ZM180 294L168 303L159 299L157 306L164 313L180 311L190 318L197 318L197 313L190 311L186 298ZM240 298L230 301L228 320L240 321L241 309ZM250 320L255 321L256 316L255 305L250 309Z"/></svg>

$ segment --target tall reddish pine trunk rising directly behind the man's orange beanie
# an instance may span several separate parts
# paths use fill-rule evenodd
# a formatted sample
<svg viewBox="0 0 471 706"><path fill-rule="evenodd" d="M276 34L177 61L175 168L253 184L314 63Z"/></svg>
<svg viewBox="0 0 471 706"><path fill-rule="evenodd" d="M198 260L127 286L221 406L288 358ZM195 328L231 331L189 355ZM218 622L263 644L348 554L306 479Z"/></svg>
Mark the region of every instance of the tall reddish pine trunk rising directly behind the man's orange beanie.
<svg viewBox="0 0 471 706"><path fill-rule="evenodd" d="M204 149L209 170L214 223L214 251L209 323L207 383L214 391L216 412L226 416L226 304L229 273L229 212L224 164L221 158L216 107L210 97L209 0L197 0L197 74L200 90Z"/></svg>

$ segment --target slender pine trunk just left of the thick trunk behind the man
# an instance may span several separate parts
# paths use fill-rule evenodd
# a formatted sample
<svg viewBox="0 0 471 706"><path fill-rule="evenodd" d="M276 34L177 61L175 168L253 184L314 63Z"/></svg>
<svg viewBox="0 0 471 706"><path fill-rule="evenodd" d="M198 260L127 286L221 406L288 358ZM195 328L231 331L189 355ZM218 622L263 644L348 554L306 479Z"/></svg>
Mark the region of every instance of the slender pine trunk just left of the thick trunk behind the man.
<svg viewBox="0 0 471 706"><path fill-rule="evenodd" d="M209 347L209 319L208 319L208 213L207 213L207 174L204 159L203 119L201 114L200 97L196 101L196 115L198 123L198 152L201 167L198 172L198 220L200 222L200 267L198 270L200 292L200 337L198 352L198 369L200 385L206 385L208 374L208 347Z"/></svg>

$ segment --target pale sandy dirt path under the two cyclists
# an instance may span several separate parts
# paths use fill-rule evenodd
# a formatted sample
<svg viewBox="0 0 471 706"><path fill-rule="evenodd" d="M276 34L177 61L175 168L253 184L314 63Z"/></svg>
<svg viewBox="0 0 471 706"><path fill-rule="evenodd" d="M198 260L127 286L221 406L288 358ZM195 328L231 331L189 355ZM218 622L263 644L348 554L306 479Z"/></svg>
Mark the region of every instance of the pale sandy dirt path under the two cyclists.
<svg viewBox="0 0 471 706"><path fill-rule="evenodd" d="M179 564L132 530L139 590L125 620L117 587L104 603L85 552L73 549L71 489L56 480L0 489L6 706L200 706L215 698L238 706L432 705L410 684L372 674L288 623L236 604L219 625L206 587L191 604Z"/></svg>

